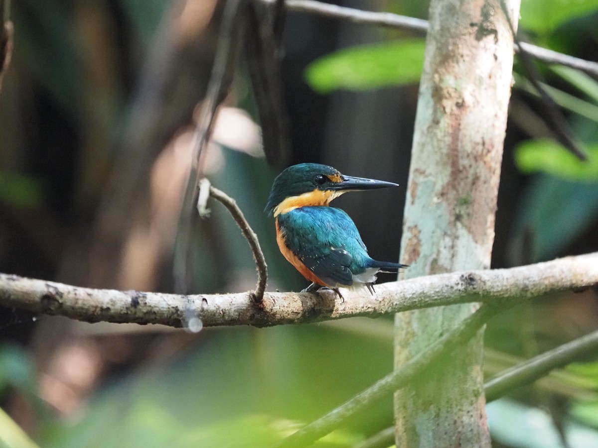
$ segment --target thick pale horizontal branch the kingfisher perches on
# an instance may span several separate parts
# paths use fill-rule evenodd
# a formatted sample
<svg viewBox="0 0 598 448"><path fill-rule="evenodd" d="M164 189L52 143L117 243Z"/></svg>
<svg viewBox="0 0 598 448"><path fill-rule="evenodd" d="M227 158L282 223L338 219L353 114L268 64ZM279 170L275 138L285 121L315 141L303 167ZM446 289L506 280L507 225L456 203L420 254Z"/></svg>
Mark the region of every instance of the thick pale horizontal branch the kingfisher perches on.
<svg viewBox="0 0 598 448"><path fill-rule="evenodd" d="M116 291L69 286L0 274L0 306L97 322L132 322L184 327L190 316L203 326L310 323L346 317L430 308L454 303L523 301L598 284L598 252L511 269L429 275L365 289L264 294L255 303L251 291L236 294L181 294Z"/></svg>

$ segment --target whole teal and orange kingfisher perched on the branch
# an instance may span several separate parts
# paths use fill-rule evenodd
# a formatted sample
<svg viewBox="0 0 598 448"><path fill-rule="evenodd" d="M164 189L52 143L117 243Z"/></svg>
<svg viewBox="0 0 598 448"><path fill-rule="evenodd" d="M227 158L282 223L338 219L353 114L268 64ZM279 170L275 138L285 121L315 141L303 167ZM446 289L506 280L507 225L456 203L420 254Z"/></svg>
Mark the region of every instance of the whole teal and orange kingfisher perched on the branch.
<svg viewBox="0 0 598 448"><path fill-rule="evenodd" d="M347 191L398 186L383 180L344 176L327 165L302 163L274 180L266 211L276 218L280 251L312 284L303 292L328 287L365 286L374 293L378 272L398 272L406 265L372 259L355 223L330 201Z"/></svg>

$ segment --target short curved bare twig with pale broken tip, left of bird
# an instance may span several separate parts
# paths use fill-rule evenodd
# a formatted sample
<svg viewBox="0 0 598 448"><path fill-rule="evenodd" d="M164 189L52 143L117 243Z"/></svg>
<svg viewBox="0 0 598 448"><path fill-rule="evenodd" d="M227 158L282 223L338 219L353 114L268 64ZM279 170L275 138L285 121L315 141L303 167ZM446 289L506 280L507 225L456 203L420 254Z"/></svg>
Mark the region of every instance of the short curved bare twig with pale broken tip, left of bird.
<svg viewBox="0 0 598 448"><path fill-rule="evenodd" d="M253 296L254 302L258 303L261 302L264 298L264 291L266 291L266 282L268 280L268 266L266 265L266 258L264 258L264 253L260 247L260 241L258 241L258 236L255 234L247 220L245 219L245 215L237 205L237 201L233 198L225 194L224 192L220 191L219 189L210 185L208 179L200 180L200 190L199 190L199 200L197 201L197 210L199 211L200 216L204 217L208 214L208 208L206 207L206 201L208 198L205 195L205 191L209 191L209 195L218 200L219 202L230 211L230 214L233 216L233 219L241 229L243 237L249 243L249 247L251 247L251 251L254 254L255 265L257 266L258 271L258 284L255 287L255 293Z"/></svg>

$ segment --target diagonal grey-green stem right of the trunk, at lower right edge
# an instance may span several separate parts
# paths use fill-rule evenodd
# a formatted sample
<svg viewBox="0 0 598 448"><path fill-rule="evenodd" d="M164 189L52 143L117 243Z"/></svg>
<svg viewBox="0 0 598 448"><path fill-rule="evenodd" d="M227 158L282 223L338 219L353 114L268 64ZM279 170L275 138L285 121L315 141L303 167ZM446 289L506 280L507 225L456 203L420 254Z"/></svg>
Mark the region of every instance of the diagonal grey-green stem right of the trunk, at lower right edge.
<svg viewBox="0 0 598 448"><path fill-rule="evenodd" d="M584 355L596 353L597 348L598 332L593 332L517 364L484 384L486 401L496 400L514 388L533 383L551 370L566 366Z"/></svg>

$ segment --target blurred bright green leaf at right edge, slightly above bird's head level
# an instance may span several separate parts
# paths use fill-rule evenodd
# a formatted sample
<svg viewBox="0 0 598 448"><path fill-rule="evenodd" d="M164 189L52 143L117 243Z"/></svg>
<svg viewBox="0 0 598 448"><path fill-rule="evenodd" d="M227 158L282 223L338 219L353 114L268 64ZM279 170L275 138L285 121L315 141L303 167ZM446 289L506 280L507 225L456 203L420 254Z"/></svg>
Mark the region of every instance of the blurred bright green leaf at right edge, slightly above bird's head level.
<svg viewBox="0 0 598 448"><path fill-rule="evenodd" d="M515 148L515 164L523 173L543 171L566 180L598 182L598 145L588 145L581 161L553 140L527 140Z"/></svg>

